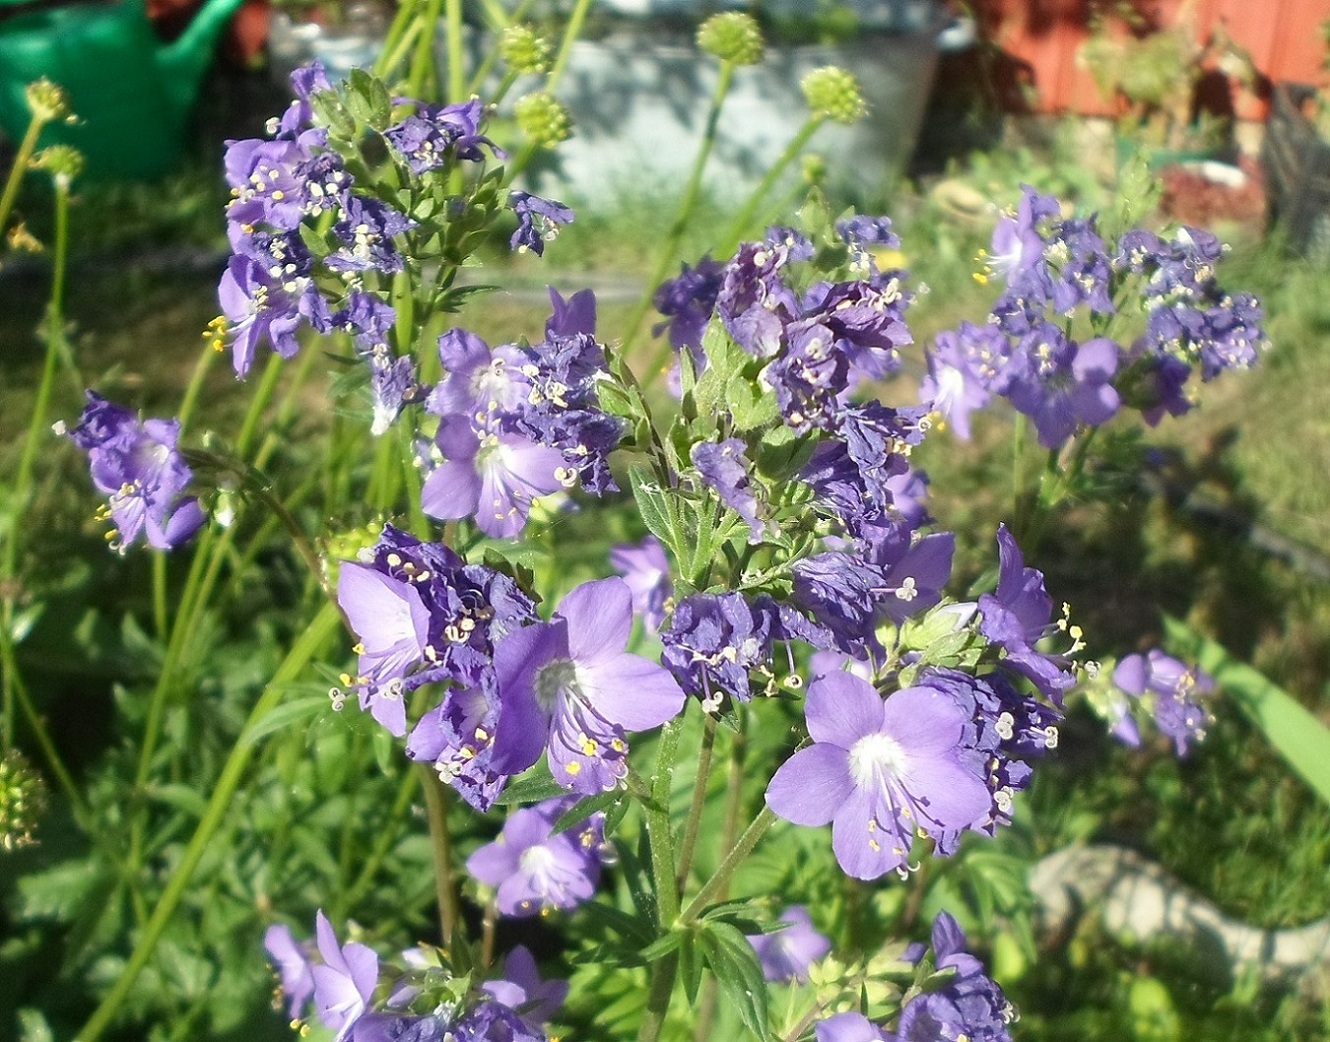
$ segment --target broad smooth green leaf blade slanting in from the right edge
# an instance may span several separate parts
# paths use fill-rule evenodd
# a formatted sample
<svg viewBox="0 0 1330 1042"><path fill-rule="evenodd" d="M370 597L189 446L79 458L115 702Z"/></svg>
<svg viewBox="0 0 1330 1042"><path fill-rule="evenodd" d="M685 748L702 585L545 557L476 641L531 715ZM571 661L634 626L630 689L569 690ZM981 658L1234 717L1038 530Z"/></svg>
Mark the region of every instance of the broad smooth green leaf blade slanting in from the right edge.
<svg viewBox="0 0 1330 1042"><path fill-rule="evenodd" d="M1302 780L1330 804L1330 729L1283 688L1186 623L1165 617L1164 629L1169 645L1196 659Z"/></svg>

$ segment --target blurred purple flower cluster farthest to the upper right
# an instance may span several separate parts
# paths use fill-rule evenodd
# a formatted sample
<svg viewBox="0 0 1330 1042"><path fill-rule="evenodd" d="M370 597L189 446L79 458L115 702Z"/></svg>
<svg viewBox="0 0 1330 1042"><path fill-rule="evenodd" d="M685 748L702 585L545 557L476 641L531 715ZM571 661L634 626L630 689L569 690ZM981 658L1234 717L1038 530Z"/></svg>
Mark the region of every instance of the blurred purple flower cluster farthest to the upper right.
<svg viewBox="0 0 1330 1042"><path fill-rule="evenodd" d="M1093 217L1064 217L1057 200L1027 185L979 274L1005 281L990 321L938 335L920 395L962 438L974 410L1007 398L1048 448L1123 405L1152 425L1185 413L1196 365L1209 381L1254 365L1264 343L1256 298L1214 279L1220 253L1213 236L1189 228L1169 242L1133 229L1113 246ZM1145 315L1144 335L1129 345L1107 335L1132 313ZM1093 335L1072 335L1080 314Z"/></svg>

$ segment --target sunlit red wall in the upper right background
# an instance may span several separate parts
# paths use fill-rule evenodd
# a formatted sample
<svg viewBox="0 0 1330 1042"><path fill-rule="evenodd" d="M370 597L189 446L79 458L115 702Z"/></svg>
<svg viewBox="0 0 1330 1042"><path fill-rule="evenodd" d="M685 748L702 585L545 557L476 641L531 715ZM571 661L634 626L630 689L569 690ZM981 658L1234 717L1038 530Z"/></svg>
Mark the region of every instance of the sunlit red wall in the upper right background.
<svg viewBox="0 0 1330 1042"><path fill-rule="evenodd" d="M1136 9L1168 25L1182 0L1136 0ZM1107 114L1093 80L1076 67L1093 0L979 0L988 39L1024 68L1039 112ZM1100 4L1103 7L1103 4ZM1198 37L1224 20L1233 40L1246 48L1270 81L1315 83L1322 77L1326 45L1321 25L1330 0L1193 0ZM1238 98L1238 114L1265 116L1265 100Z"/></svg>

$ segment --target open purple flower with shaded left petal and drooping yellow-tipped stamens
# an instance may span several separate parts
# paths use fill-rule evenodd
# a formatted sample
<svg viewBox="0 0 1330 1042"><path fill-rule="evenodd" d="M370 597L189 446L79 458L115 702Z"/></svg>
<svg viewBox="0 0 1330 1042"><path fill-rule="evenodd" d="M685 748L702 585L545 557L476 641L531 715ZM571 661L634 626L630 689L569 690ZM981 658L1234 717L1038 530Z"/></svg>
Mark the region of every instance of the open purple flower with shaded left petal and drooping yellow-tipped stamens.
<svg viewBox="0 0 1330 1042"><path fill-rule="evenodd" d="M628 733L684 708L669 671L625 651L632 627L633 595L616 576L583 583L551 621L499 641L496 769L525 771L548 745L555 780L575 792L597 793L624 779Z"/></svg>

